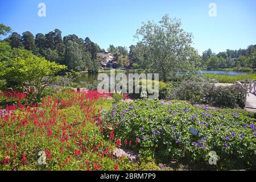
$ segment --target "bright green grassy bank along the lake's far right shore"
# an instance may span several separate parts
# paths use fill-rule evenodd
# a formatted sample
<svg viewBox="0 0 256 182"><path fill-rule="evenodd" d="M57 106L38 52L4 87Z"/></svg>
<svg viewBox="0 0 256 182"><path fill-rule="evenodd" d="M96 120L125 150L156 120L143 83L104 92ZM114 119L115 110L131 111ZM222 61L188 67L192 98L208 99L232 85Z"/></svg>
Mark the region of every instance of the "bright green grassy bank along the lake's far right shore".
<svg viewBox="0 0 256 182"><path fill-rule="evenodd" d="M233 83L235 81L245 80L246 78L254 79L256 77L256 73L250 73L245 75L218 75L213 73L204 73L203 76L211 79L218 80L220 83Z"/></svg>

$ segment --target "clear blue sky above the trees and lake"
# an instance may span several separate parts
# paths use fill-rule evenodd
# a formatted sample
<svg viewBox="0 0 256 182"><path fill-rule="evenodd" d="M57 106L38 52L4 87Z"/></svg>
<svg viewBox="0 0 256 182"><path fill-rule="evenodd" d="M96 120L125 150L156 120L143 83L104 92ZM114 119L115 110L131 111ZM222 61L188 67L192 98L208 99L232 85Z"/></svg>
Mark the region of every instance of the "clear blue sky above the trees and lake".
<svg viewBox="0 0 256 182"><path fill-rule="evenodd" d="M46 17L38 16L38 4L46 4ZM208 15L216 3L217 16ZM0 0L0 23L22 34L53 31L63 36L88 36L102 48L135 44L133 35L142 22L158 22L164 14L180 18L192 32L199 53L246 48L256 44L256 1L253 0Z"/></svg>

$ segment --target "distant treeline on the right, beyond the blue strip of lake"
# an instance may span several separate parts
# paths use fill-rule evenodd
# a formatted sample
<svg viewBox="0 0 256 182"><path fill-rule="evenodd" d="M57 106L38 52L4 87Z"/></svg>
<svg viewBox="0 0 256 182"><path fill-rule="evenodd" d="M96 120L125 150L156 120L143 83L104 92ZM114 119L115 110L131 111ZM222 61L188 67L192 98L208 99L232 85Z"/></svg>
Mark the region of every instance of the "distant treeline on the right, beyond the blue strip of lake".
<svg viewBox="0 0 256 182"><path fill-rule="evenodd" d="M203 67L207 68L256 68L256 45L247 49L219 52L217 55L211 49L203 52Z"/></svg>

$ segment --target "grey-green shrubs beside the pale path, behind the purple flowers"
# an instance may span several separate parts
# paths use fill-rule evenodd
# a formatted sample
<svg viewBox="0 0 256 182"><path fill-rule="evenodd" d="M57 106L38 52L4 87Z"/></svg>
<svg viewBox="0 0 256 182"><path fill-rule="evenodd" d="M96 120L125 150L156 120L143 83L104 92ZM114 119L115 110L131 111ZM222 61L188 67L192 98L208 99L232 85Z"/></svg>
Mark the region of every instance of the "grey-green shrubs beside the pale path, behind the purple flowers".
<svg viewBox="0 0 256 182"><path fill-rule="evenodd" d="M168 98L204 102L222 107L244 107L246 90L241 85L215 86L215 80L187 80L181 82Z"/></svg>

